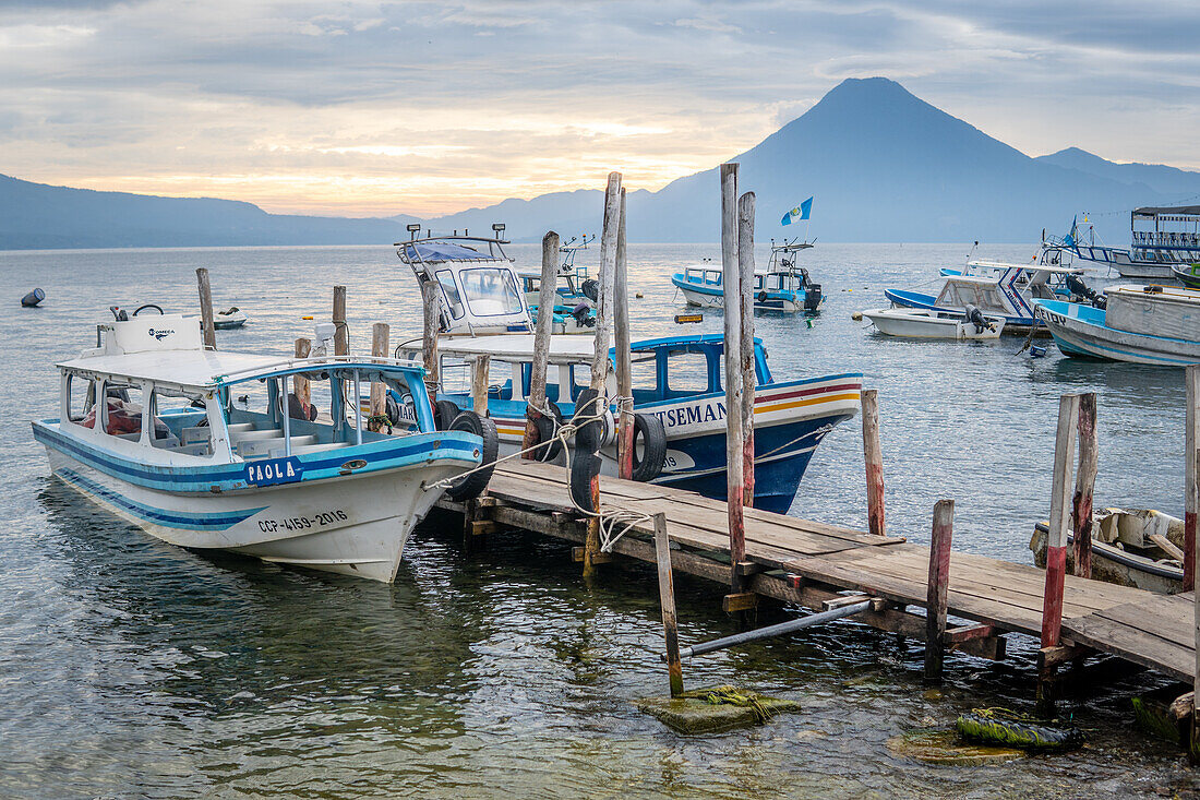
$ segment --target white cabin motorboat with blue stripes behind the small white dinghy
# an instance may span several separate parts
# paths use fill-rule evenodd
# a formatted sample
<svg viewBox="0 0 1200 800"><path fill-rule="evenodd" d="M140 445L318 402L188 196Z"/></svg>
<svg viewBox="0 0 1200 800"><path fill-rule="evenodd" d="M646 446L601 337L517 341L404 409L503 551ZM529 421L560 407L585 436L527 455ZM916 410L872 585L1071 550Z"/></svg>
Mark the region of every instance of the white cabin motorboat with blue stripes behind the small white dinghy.
<svg viewBox="0 0 1200 800"><path fill-rule="evenodd" d="M967 306L977 308L986 317L1004 320L1007 333L1027 332L1034 322L1033 304L1060 297L1060 287L1082 287L1086 270L1076 267L1039 264L1009 264L1003 262L972 262L961 273L943 274L937 294L906 289L884 289L892 305L901 309L925 309L962 315ZM1078 282L1078 283L1076 283Z"/></svg>

